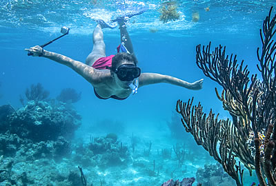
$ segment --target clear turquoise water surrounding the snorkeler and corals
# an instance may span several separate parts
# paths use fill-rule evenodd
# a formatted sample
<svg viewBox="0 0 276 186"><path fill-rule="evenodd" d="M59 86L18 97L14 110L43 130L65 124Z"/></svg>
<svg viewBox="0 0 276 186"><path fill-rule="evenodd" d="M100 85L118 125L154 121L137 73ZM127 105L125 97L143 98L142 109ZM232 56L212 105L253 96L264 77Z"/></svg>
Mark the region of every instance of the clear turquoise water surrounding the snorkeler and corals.
<svg viewBox="0 0 276 186"><path fill-rule="evenodd" d="M83 169L88 182L93 185L99 185L101 179L107 183L112 180L113 185L161 185L170 178L195 176L198 167L215 163L202 147L197 147L184 128L185 137L179 140L170 136L167 127L167 122L171 121L175 112L177 100L188 101L193 96L195 104L200 101L204 106L204 112L209 112L212 108L214 113L220 113L221 118L228 116L215 95L215 87L219 90L221 87L197 68L195 46L207 45L209 41L212 41L213 49L219 44L226 45L227 54L237 54L238 61L244 60L250 72L258 73L256 50L262 46L259 29L262 28L262 21L270 6L276 5L275 1L177 1L180 19L168 23L159 21L159 8L165 1L121 1L120 3L132 6L144 3L149 8L144 14L132 17L127 24L142 72L168 74L188 82L204 78L204 87L199 91L168 84L149 85L141 87L138 94L125 101L97 99L92 86L66 66L48 59L27 56L24 51L24 48L41 45L59 37L59 30L64 25L70 28L70 34L45 49L84 62L92 50L92 31L96 25L92 19L108 20L122 14L118 10L119 1L99 1L96 5L93 2L1 1L1 105L10 104L16 109L21 107L19 95L24 94L26 87L32 83L41 83L50 91L52 98L58 96L63 88L74 88L82 93L81 100L74 106L83 117L76 138L82 138L84 143L90 141L91 135L105 136L114 132L116 127L110 127L106 131L97 130L97 123L106 121L113 125L121 123L124 131L116 132L121 141L128 145L132 134L139 137L141 143L137 151L140 150L140 153L144 152L149 141L152 142L152 156L146 157L149 167L157 157L157 149L171 148L177 142L185 143L187 152L195 151L198 155L197 158L189 158L186 165L177 169L173 176L168 173L172 170L165 170L177 164L175 158L157 161L158 165L166 168L160 170L159 177L153 178L139 169L131 173L131 165L124 169L112 167L99 171L101 173L88 165ZM208 7L210 11L204 10ZM192 21L193 12L199 12L197 22ZM273 10L273 15L275 13ZM106 28L103 34L106 54L115 54L119 45L119 29ZM178 123L181 125L180 118ZM200 156L204 158L199 158ZM61 164L66 167L66 162ZM245 176L247 185L254 179Z"/></svg>

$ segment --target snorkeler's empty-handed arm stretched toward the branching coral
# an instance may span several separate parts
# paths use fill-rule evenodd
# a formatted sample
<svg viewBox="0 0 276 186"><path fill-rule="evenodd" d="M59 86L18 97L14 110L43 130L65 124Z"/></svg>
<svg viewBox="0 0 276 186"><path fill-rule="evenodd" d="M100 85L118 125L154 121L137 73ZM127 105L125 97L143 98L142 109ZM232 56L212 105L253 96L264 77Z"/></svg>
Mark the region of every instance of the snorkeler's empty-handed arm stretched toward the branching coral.
<svg viewBox="0 0 276 186"><path fill-rule="evenodd" d="M155 83L170 83L180 87L186 87L190 90L200 90L202 88L203 79L188 83L187 81L177 79L172 76L156 74L156 73L142 73L139 77L139 87Z"/></svg>

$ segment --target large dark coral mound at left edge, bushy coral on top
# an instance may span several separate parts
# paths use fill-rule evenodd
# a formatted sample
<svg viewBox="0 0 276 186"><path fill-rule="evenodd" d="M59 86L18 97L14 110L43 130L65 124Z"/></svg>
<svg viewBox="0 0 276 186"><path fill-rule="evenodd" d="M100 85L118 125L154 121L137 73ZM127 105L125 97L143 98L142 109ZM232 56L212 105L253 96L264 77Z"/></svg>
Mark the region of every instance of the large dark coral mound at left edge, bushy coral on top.
<svg viewBox="0 0 276 186"><path fill-rule="evenodd" d="M0 106L0 154L14 156L24 145L35 149L27 154L41 154L39 149L57 156L68 154L68 141L81 125L81 116L66 103L40 101L46 98L41 84L32 85L30 90L26 97L32 100L19 110Z"/></svg>

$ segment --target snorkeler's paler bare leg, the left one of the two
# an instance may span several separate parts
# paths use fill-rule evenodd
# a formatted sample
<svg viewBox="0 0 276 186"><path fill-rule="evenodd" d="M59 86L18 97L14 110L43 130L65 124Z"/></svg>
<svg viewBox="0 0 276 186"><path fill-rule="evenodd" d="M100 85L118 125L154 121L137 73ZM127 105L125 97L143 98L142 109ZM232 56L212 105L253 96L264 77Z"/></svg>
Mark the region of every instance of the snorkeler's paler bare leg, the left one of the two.
<svg viewBox="0 0 276 186"><path fill-rule="evenodd" d="M103 42L101 25L97 25L93 32L93 49L86 58L86 64L92 66L97 59L106 56L106 45Z"/></svg>

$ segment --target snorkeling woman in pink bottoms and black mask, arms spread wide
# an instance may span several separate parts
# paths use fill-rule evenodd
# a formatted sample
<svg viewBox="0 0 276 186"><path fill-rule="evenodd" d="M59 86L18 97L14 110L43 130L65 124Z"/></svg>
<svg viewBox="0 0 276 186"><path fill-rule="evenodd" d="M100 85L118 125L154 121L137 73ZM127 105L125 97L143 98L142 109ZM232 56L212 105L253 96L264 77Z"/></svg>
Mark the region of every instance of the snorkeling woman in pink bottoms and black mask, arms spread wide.
<svg viewBox="0 0 276 186"><path fill-rule="evenodd" d="M141 73L141 69L137 67L137 59L126 30L127 19L129 17L119 17L113 20L119 24L121 34L121 45L117 48L118 53L115 55L106 56L102 28L113 27L102 20L97 21L98 24L93 32L93 48L86 59L86 64L55 52L43 50L39 45L26 49L26 51L32 52L32 56L42 56L72 68L91 83L95 95L99 99L124 100L130 94L135 94L138 87L155 83L170 83L190 90L202 88L203 79L188 83L173 76Z"/></svg>

